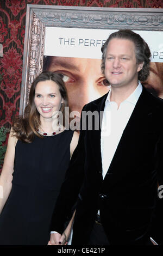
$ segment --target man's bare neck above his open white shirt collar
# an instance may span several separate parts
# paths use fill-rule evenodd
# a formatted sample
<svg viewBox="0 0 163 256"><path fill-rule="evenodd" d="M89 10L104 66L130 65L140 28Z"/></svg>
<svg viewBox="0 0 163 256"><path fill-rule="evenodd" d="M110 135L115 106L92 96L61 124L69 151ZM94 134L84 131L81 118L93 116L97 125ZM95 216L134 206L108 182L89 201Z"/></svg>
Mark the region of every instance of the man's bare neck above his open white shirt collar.
<svg viewBox="0 0 163 256"><path fill-rule="evenodd" d="M134 84L133 86L128 86L128 87L111 86L110 101L115 101L119 107L121 102L126 100L134 92L134 90L137 87L137 84Z"/></svg>

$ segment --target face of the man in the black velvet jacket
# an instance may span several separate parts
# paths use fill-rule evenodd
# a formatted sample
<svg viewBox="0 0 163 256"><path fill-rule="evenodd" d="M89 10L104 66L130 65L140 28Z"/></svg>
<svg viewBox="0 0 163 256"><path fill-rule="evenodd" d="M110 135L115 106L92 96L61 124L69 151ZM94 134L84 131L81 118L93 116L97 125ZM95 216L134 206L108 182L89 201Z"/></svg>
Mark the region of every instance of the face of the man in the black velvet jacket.
<svg viewBox="0 0 163 256"><path fill-rule="evenodd" d="M105 77L112 87L137 85L141 65L136 64L134 43L126 39L111 39L106 51Z"/></svg>

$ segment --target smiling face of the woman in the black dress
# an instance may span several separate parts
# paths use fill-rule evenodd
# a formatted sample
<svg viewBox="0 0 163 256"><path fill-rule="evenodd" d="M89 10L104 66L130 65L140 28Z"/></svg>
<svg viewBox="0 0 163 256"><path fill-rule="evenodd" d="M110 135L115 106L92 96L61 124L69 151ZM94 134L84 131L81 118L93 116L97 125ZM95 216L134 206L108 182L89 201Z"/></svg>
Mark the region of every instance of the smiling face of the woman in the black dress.
<svg viewBox="0 0 163 256"><path fill-rule="evenodd" d="M37 83L34 102L41 120L54 117L64 100L61 97L58 84L52 80L46 80Z"/></svg>

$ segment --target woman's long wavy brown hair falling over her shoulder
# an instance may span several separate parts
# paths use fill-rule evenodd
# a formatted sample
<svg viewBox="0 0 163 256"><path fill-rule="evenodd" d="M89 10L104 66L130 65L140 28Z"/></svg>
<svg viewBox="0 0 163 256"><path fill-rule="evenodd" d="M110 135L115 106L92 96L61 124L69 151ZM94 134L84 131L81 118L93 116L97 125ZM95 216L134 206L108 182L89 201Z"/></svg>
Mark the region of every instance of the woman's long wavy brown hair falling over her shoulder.
<svg viewBox="0 0 163 256"><path fill-rule="evenodd" d="M50 71L44 71L39 76L37 76L32 83L29 93L28 105L24 109L23 116L18 116L17 118L15 118L12 125L14 136L16 136L22 142L31 143L35 135L41 138L43 137L37 132L40 126L40 114L36 109L34 97L37 83L47 80L52 80L59 86L61 97L64 100L64 103L62 103L61 105L60 111L62 112L63 117L65 117L65 107L68 106L68 97L65 83L62 80L61 75Z"/></svg>

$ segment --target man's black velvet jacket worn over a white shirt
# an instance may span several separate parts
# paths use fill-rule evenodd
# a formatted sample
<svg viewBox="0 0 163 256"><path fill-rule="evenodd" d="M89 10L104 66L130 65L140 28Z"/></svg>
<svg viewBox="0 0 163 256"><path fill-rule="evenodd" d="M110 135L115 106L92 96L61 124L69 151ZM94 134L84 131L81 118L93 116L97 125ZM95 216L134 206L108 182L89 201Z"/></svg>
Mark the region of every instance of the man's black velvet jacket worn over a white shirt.
<svg viewBox="0 0 163 256"><path fill-rule="evenodd" d="M103 111L106 97L88 103L83 111ZM51 230L64 231L64 222L77 202L73 245L87 244L98 209L111 244L146 243L151 236L158 183L163 184L162 114L163 100L143 88L104 180L101 130L80 131Z"/></svg>

